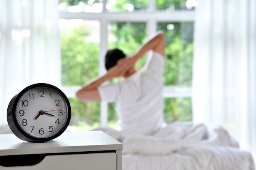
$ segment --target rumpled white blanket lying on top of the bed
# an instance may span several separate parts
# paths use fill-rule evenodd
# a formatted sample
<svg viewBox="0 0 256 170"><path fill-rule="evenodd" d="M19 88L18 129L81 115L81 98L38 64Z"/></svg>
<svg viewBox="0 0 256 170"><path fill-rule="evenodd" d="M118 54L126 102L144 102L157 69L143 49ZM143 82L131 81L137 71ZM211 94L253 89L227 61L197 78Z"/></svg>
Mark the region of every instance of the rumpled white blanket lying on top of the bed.
<svg viewBox="0 0 256 170"><path fill-rule="evenodd" d="M135 135L124 138L123 153L167 155L185 148L231 146L238 143L222 127L208 130L204 124L173 123L151 136Z"/></svg>

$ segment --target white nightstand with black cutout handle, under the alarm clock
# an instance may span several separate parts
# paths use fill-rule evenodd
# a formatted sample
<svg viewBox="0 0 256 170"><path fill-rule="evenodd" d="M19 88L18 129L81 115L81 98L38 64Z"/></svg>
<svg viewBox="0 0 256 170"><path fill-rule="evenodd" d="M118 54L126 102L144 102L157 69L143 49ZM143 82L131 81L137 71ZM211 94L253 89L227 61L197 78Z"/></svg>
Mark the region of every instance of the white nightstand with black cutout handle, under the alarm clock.
<svg viewBox="0 0 256 170"><path fill-rule="evenodd" d="M102 131L64 132L45 143L0 135L0 170L121 170L123 145Z"/></svg>

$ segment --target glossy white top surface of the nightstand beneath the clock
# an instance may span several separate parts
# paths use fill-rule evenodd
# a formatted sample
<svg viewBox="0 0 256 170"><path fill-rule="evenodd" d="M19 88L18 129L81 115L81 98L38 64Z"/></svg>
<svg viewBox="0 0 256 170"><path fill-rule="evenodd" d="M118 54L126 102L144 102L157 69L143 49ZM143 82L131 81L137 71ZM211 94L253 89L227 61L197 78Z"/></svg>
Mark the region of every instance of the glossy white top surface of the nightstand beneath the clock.
<svg viewBox="0 0 256 170"><path fill-rule="evenodd" d="M44 143L22 141L14 134L0 135L0 156L103 152L122 149L123 144L102 131L64 132L56 139Z"/></svg>

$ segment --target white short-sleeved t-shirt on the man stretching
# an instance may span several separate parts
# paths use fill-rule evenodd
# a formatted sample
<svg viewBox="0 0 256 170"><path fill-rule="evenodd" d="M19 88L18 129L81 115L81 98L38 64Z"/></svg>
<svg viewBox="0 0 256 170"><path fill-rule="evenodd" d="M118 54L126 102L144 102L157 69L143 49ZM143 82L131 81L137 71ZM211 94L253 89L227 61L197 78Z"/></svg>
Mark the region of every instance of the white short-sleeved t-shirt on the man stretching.
<svg viewBox="0 0 256 170"><path fill-rule="evenodd" d="M151 135L163 123L164 57L150 53L145 67L124 81L98 87L102 101L116 102L122 136Z"/></svg>

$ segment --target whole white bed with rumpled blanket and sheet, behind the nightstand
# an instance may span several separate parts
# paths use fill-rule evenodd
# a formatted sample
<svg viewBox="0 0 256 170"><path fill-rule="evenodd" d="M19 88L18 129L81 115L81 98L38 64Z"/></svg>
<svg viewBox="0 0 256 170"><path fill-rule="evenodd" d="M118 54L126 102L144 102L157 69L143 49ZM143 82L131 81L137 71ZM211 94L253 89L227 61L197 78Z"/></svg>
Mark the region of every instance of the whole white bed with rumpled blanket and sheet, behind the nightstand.
<svg viewBox="0 0 256 170"><path fill-rule="evenodd" d="M173 123L152 136L128 137L123 148L123 170L255 169L252 155L221 126Z"/></svg>

